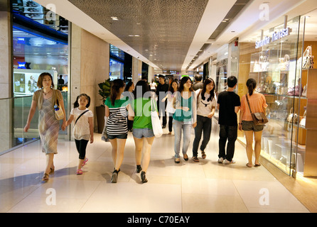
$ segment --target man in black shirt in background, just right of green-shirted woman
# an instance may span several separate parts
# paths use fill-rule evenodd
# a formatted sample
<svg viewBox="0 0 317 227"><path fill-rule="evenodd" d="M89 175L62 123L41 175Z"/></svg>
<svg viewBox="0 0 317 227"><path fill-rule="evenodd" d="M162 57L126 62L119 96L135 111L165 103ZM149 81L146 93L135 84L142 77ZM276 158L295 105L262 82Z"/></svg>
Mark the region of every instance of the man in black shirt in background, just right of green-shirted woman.
<svg viewBox="0 0 317 227"><path fill-rule="evenodd" d="M166 96L166 92L168 92L168 84L165 83L165 77L163 75L159 75L159 85L156 87L156 96L157 106L159 107L159 118L163 116L163 126L162 128L166 128L166 104L167 100L162 101ZM161 115L162 114L162 115Z"/></svg>

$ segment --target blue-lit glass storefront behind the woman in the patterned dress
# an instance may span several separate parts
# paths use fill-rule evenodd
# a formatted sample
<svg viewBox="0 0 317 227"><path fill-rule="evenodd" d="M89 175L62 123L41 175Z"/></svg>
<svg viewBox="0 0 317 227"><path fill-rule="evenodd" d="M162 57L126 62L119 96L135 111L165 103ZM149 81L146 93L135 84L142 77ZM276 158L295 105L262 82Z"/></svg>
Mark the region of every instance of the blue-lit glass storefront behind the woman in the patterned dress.
<svg viewBox="0 0 317 227"><path fill-rule="evenodd" d="M23 127L38 90L38 76L49 72L55 89L63 94L68 112L68 21L30 0L12 0L13 18L13 106L12 136L9 148L38 138L38 113L28 133ZM22 114L21 114L22 113ZM60 123L61 124L61 123ZM65 135L66 131L61 131Z"/></svg>

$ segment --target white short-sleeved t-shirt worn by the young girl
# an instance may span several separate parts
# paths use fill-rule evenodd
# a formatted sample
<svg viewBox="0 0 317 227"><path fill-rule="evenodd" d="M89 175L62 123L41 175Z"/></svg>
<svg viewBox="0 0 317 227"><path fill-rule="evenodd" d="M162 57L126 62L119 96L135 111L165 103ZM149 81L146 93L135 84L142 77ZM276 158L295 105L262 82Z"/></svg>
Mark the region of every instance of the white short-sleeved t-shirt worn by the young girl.
<svg viewBox="0 0 317 227"><path fill-rule="evenodd" d="M74 115L74 120L72 122L75 124L77 117L79 117L80 114L86 110L88 109L86 108L84 110L80 110L78 107L72 109L72 111L70 111L70 115ZM93 116L94 114L92 114L92 111L87 111L78 119L72 131L72 134L76 140L90 140L90 127L88 118L92 118Z"/></svg>

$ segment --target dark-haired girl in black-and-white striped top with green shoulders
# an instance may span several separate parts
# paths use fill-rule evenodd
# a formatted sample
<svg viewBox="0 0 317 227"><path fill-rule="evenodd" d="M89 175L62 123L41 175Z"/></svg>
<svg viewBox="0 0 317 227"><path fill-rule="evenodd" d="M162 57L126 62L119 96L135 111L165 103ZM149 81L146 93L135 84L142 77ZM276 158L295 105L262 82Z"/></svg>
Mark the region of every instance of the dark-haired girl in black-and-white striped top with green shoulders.
<svg viewBox="0 0 317 227"><path fill-rule="evenodd" d="M105 116L107 121L107 135L112 145L112 160L114 172L112 172L112 183L117 183L117 177L124 157L124 146L127 141L127 105L129 98L123 97L124 82L122 79L114 79L111 86L110 96L104 102Z"/></svg>

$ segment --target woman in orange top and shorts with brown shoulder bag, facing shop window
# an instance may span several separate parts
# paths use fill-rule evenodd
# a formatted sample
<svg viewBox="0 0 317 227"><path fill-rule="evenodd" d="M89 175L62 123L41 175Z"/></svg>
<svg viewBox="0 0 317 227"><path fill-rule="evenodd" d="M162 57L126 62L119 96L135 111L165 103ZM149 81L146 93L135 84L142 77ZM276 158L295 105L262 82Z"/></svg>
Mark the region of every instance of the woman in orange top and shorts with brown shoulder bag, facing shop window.
<svg viewBox="0 0 317 227"><path fill-rule="evenodd" d="M247 89L248 89L248 99L249 105L253 113L265 113L265 109L267 108L267 101L263 94L259 94L254 92L255 88L257 87L257 82L255 79L248 79L247 80ZM245 131L245 138L247 140L247 167L252 167L252 155L253 155L253 135L254 135L254 154L255 154L255 161L254 167L259 167L261 164L259 163L259 156L261 153L261 138L262 138L262 131L264 126L255 126L252 120L251 113L249 111L249 106L247 104L246 96L242 96L241 98L241 106L240 106L240 123L239 123L239 130Z"/></svg>

